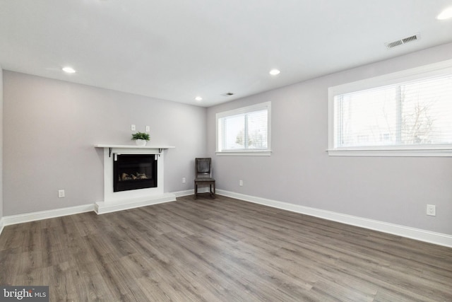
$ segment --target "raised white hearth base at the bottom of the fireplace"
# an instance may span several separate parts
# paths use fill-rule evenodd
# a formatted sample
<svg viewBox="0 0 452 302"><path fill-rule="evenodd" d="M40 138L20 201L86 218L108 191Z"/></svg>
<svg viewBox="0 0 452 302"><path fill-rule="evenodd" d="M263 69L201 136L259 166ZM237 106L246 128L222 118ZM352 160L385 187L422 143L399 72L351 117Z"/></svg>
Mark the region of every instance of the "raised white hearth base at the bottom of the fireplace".
<svg viewBox="0 0 452 302"><path fill-rule="evenodd" d="M165 193L157 195L155 197L148 197L146 199L136 199L128 201L118 202L96 202L94 211L97 214L111 213L114 211L122 211L125 209L133 209L138 207L150 206L152 204L161 204L163 202L174 202L176 200L176 194Z"/></svg>

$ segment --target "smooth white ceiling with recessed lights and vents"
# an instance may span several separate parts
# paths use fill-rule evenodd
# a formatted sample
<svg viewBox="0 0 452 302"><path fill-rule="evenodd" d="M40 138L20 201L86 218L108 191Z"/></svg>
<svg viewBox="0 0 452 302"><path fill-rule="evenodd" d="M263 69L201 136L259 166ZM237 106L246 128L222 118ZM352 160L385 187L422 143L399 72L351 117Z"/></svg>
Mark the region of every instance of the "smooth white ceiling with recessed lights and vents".
<svg viewBox="0 0 452 302"><path fill-rule="evenodd" d="M0 0L0 65L208 107L452 42L452 20L436 20L448 6L451 0ZM417 33L420 40L386 49L385 42ZM66 65L76 74L64 74ZM281 73L270 76L273 68Z"/></svg>

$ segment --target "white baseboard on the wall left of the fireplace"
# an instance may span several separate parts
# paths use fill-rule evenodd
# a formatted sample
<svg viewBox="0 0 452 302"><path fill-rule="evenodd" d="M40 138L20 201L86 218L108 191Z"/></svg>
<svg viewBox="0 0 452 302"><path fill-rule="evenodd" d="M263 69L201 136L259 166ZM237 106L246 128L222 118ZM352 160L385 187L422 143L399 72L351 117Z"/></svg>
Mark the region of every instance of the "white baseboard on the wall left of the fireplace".
<svg viewBox="0 0 452 302"><path fill-rule="evenodd" d="M4 216L1 220L4 226L11 224L25 223L30 221L37 221L42 219L49 219L73 214L81 214L88 211L94 211L94 204L83 204L76 207L67 207L61 209L52 209L47 211L36 211L32 213ZM1 226L1 224L0 224Z"/></svg>

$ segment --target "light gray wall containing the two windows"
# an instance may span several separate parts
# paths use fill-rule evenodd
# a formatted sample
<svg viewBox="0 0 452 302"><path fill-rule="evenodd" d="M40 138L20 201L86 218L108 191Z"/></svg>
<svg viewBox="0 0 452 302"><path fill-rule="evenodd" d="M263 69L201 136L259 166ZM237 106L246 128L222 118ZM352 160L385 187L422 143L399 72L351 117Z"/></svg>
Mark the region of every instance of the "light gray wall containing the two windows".
<svg viewBox="0 0 452 302"><path fill-rule="evenodd" d="M452 158L326 153L328 87L446 59L452 44L208 108L218 189L452 234ZM266 101L272 102L272 156L215 156L215 113ZM436 216L426 215L426 204L436 205Z"/></svg>

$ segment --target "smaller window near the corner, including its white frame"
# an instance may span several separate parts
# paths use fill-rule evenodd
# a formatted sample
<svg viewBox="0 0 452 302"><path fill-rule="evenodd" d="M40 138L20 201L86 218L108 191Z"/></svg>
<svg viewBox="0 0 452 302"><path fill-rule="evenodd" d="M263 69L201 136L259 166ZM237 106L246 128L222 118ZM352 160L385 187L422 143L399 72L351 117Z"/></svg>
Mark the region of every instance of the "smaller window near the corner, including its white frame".
<svg viewBox="0 0 452 302"><path fill-rule="evenodd" d="M270 155L271 103L217 113L218 155Z"/></svg>

